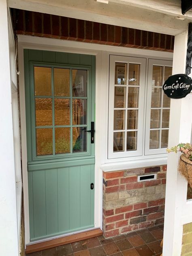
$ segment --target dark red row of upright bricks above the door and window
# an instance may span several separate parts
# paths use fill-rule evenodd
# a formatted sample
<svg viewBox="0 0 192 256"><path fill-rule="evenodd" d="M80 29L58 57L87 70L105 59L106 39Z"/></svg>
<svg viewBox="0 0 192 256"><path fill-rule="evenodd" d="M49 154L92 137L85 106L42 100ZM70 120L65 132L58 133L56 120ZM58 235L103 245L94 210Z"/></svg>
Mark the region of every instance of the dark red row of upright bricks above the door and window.
<svg viewBox="0 0 192 256"><path fill-rule="evenodd" d="M17 34L173 52L174 36L11 9Z"/></svg>

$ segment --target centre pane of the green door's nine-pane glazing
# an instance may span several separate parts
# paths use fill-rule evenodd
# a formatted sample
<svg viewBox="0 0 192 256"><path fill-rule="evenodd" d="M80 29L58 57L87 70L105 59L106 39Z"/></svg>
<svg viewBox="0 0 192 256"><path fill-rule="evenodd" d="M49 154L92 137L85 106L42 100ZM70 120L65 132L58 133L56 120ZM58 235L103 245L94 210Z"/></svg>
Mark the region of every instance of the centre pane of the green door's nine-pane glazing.
<svg viewBox="0 0 192 256"><path fill-rule="evenodd" d="M55 99L55 125L70 125L69 99Z"/></svg>

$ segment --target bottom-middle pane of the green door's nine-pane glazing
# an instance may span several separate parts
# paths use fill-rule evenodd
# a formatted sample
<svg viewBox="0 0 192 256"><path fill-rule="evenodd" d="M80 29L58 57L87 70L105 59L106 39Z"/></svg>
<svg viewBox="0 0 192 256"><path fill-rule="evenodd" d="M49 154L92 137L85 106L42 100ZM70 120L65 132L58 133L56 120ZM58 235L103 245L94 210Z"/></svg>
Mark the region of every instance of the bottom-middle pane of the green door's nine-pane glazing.
<svg viewBox="0 0 192 256"><path fill-rule="evenodd" d="M55 128L55 154L70 153L70 128Z"/></svg>

